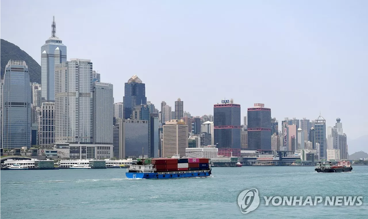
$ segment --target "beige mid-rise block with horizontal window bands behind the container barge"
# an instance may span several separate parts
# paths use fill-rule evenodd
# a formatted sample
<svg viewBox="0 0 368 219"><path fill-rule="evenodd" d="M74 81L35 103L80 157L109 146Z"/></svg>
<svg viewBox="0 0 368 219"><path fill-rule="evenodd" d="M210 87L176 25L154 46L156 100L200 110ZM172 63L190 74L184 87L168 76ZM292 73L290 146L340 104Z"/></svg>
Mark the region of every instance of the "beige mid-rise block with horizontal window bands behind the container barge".
<svg viewBox="0 0 368 219"><path fill-rule="evenodd" d="M163 125L162 157L185 156L188 147L188 126L181 120L170 120Z"/></svg>

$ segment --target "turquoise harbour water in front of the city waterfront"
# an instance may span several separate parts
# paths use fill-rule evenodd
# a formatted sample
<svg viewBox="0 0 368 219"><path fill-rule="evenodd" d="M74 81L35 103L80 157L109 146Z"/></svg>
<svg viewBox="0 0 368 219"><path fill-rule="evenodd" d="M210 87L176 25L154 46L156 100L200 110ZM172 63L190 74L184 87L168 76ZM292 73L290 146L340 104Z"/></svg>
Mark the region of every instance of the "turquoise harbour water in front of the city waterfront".
<svg viewBox="0 0 368 219"><path fill-rule="evenodd" d="M368 218L368 166L212 168L212 177L127 179L125 169L1 170L0 218ZM241 191L261 204L243 214ZM361 206L265 206L263 196L359 196Z"/></svg>

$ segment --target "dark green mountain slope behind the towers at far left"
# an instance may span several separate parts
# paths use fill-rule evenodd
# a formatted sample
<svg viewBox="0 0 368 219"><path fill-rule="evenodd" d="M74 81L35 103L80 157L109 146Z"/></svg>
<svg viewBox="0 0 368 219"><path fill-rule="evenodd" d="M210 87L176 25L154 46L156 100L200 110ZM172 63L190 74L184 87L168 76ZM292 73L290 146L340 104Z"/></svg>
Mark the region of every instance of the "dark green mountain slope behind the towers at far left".
<svg viewBox="0 0 368 219"><path fill-rule="evenodd" d="M28 66L31 82L41 83L41 66L25 51L6 40L0 39L0 77L4 78L5 66L9 60L24 60Z"/></svg>

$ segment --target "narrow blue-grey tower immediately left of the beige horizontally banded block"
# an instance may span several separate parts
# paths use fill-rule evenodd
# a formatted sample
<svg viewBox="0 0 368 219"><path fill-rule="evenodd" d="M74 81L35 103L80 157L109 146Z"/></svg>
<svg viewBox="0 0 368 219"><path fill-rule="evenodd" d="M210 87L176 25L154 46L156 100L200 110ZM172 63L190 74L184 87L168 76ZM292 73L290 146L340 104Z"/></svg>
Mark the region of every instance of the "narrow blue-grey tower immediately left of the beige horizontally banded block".
<svg viewBox="0 0 368 219"><path fill-rule="evenodd" d="M159 143L160 143L160 133L159 133L159 115L157 113L150 114L150 157L159 158Z"/></svg>

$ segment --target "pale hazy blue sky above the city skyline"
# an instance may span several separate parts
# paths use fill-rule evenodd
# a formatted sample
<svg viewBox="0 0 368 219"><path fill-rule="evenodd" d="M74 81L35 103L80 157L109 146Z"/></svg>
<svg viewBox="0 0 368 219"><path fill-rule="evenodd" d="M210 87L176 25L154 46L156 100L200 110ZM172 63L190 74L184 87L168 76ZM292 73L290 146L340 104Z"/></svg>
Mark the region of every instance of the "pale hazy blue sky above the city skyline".
<svg viewBox="0 0 368 219"><path fill-rule="evenodd" d="M254 103L272 117L343 122L348 139L367 134L368 1L0 1L0 38L40 63L51 36L67 58L91 59L123 101L132 75L146 96L191 115L213 115L234 99L242 118ZM1 53L1 51L0 51ZM243 123L243 122L242 122Z"/></svg>

